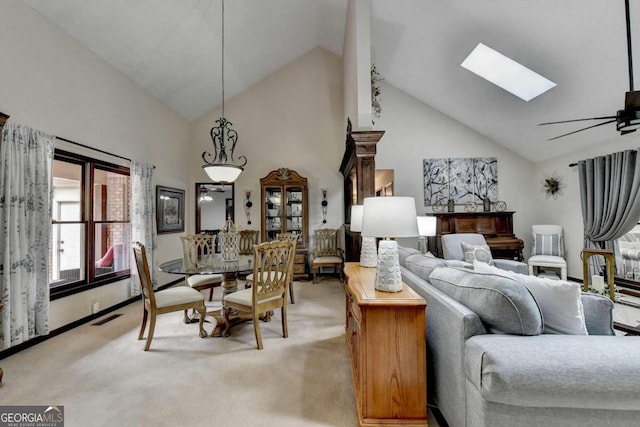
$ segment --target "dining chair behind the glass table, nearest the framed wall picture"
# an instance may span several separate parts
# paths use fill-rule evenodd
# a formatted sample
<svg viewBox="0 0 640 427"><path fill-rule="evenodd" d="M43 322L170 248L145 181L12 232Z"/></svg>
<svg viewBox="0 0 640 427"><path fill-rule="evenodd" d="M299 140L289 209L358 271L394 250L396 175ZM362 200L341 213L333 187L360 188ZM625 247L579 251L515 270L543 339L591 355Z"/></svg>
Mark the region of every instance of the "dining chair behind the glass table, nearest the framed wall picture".
<svg viewBox="0 0 640 427"><path fill-rule="evenodd" d="M182 241L183 262L185 268L196 269L203 263L203 259L215 256L216 236L210 234L188 234L180 236ZM213 299L213 289L220 286L224 280L222 274L186 274L185 280L189 287L200 292L209 289L209 301Z"/></svg>

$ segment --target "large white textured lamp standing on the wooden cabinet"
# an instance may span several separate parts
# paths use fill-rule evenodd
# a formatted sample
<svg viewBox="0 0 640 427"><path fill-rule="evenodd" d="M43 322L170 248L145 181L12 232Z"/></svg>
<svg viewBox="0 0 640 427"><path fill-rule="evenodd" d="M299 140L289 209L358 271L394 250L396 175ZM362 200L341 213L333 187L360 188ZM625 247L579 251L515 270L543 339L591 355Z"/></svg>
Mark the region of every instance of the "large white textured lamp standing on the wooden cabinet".
<svg viewBox="0 0 640 427"><path fill-rule="evenodd" d="M375 289L400 292L402 276L395 237L416 237L418 220L413 197L367 197L364 199L362 235L381 237L378 248Z"/></svg>

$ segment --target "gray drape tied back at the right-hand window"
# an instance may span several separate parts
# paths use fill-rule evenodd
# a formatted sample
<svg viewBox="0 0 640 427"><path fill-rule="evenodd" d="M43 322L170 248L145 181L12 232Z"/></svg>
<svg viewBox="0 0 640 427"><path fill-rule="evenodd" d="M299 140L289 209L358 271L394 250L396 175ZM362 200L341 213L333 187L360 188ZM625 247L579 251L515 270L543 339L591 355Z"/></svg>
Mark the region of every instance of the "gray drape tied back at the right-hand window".
<svg viewBox="0 0 640 427"><path fill-rule="evenodd" d="M640 219L638 152L626 150L582 160L578 168L584 247L614 249L614 240ZM603 264L602 259L597 260L592 272L599 272Z"/></svg>

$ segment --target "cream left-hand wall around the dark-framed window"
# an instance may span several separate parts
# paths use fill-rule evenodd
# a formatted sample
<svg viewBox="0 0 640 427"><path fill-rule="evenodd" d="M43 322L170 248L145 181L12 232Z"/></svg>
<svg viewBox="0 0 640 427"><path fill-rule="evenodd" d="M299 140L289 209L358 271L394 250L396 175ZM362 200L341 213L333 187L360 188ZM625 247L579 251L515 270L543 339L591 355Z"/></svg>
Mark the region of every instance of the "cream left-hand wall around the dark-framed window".
<svg viewBox="0 0 640 427"><path fill-rule="evenodd" d="M10 121L156 165L155 183L189 189L190 124L22 1L2 2L0 111ZM193 217L187 205L187 217ZM180 256L177 234L159 237L159 259ZM175 279L161 275L160 283ZM51 303L56 329L128 298L118 282Z"/></svg>

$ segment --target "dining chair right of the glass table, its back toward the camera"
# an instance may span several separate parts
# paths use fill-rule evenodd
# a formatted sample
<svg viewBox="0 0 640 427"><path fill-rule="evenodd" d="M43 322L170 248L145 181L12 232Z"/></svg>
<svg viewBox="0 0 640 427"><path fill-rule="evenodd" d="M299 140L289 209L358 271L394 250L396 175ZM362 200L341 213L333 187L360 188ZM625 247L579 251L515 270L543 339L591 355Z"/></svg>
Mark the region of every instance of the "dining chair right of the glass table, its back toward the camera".
<svg viewBox="0 0 640 427"><path fill-rule="evenodd" d="M254 246L253 285L225 295L222 307L229 335L231 310L249 313L253 319L253 330L258 350L262 350L260 315L280 308L282 317L282 335L287 338L287 287L293 274L295 245L292 242L264 242Z"/></svg>

